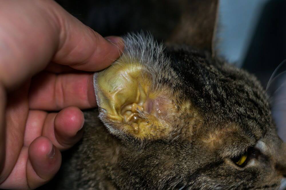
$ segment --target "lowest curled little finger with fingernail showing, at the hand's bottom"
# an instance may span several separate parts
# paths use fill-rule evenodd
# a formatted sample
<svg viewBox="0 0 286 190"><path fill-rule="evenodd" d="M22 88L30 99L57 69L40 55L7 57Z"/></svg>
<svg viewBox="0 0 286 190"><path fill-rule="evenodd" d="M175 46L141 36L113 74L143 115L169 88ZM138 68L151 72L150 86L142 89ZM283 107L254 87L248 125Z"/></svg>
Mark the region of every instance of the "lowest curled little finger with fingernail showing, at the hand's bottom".
<svg viewBox="0 0 286 190"><path fill-rule="evenodd" d="M31 189L53 178L61 165L61 153L46 137L36 138L29 146L27 181Z"/></svg>

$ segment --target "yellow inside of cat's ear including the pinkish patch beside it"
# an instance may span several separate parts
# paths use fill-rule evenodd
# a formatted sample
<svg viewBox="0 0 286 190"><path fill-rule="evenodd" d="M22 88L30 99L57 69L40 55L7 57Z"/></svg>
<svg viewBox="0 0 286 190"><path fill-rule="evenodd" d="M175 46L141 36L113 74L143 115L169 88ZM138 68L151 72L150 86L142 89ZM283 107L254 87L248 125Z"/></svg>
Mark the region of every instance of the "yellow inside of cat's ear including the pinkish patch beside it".
<svg viewBox="0 0 286 190"><path fill-rule="evenodd" d="M140 139L157 139L167 135L166 121L174 105L168 90L153 90L152 77L141 64L124 57L94 75L102 121L113 134L126 133ZM170 90L168 91L170 92Z"/></svg>

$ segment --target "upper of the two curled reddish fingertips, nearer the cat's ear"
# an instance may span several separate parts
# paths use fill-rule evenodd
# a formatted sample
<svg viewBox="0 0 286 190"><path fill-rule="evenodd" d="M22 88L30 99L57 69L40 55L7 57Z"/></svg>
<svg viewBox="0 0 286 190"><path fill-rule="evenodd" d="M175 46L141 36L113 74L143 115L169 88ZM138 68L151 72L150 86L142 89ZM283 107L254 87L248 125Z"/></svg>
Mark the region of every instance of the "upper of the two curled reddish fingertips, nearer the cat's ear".
<svg viewBox="0 0 286 190"><path fill-rule="evenodd" d="M57 114L47 115L42 135L49 138L59 150L65 150L82 138L83 124L83 113L76 107L68 107Z"/></svg>

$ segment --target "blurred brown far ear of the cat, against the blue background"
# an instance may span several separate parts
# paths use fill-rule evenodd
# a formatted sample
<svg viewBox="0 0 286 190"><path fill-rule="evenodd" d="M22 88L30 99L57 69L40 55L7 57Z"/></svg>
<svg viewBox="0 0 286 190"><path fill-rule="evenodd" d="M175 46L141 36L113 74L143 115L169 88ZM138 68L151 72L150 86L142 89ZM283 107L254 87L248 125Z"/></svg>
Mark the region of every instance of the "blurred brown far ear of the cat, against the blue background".
<svg viewBox="0 0 286 190"><path fill-rule="evenodd" d="M180 1L180 21L166 44L185 44L214 53L219 0Z"/></svg>

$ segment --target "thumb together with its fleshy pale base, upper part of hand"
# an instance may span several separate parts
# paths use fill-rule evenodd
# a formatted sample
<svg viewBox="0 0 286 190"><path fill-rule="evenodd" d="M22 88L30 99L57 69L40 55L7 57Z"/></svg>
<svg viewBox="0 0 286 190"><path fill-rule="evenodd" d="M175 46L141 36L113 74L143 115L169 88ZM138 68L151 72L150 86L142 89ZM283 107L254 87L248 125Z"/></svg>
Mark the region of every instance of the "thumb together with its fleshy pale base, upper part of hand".
<svg viewBox="0 0 286 190"><path fill-rule="evenodd" d="M52 0L0 1L0 23L0 82L8 89L43 70L50 60L96 71L124 49L121 38L104 39Z"/></svg>

